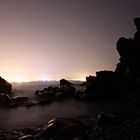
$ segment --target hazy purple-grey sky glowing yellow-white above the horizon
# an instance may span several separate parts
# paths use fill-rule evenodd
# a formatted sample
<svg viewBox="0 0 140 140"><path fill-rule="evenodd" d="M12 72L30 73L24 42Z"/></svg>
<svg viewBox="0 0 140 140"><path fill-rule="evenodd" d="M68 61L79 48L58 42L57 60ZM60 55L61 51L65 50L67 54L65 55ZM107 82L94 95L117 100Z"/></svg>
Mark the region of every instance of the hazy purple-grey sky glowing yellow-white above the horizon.
<svg viewBox="0 0 140 140"><path fill-rule="evenodd" d="M0 0L0 75L83 79L114 70L116 41L133 37L139 0Z"/></svg>

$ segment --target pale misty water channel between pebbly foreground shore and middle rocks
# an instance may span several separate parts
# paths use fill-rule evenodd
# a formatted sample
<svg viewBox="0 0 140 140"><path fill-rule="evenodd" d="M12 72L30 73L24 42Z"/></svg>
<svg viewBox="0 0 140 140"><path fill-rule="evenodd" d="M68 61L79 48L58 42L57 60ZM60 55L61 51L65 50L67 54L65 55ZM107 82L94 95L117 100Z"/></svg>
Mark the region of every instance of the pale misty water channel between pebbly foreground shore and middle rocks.
<svg viewBox="0 0 140 140"><path fill-rule="evenodd" d="M54 117L84 116L88 114L88 106L69 99L46 106L0 109L0 114L0 129L13 129L37 125Z"/></svg>

